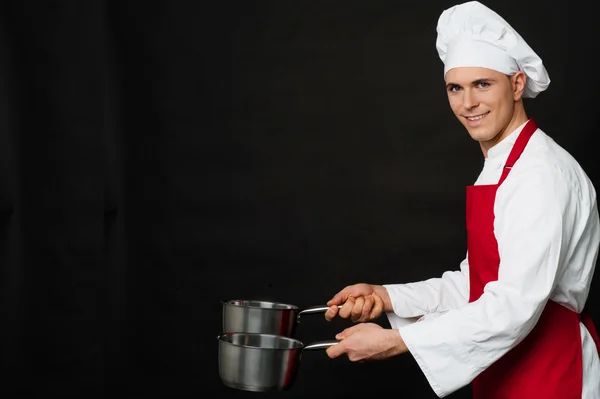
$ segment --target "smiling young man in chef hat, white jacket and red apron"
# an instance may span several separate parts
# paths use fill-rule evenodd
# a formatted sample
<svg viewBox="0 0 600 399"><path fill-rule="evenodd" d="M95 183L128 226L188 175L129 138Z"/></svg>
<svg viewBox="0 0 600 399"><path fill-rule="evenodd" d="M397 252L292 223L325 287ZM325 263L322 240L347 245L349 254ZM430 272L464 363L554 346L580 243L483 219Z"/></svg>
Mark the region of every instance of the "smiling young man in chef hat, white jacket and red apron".
<svg viewBox="0 0 600 399"><path fill-rule="evenodd" d="M344 288L325 317L362 324L327 353L410 352L439 397L472 383L475 399L600 398L600 343L584 310L600 242L596 192L523 107L548 74L478 2L444 11L437 31L450 106L485 157L467 188L466 259L440 278ZM365 323L383 312L392 329Z"/></svg>

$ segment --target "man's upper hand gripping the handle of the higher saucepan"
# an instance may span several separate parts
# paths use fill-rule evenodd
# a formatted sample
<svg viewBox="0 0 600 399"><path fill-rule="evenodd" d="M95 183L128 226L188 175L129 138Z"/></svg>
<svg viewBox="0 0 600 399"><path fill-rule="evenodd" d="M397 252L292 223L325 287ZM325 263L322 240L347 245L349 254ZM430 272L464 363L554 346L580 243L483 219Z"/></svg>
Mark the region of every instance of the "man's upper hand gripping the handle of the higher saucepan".
<svg viewBox="0 0 600 399"><path fill-rule="evenodd" d="M380 285L364 283L347 286L329 300L327 306L329 309L325 312L325 318L328 321L339 315L364 323L376 319L384 311L391 311L387 290Z"/></svg>

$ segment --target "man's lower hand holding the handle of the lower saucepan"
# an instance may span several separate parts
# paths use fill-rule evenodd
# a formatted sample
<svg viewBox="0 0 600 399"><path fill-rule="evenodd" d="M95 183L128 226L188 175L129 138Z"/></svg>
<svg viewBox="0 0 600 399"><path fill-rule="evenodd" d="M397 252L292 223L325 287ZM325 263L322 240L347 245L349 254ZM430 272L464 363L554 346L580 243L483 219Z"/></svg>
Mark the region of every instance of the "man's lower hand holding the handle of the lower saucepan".
<svg viewBox="0 0 600 399"><path fill-rule="evenodd" d="M384 360L408 352L398 330L384 329L378 324L363 323L336 335L341 340L327 348L327 355L336 358L343 354L353 362Z"/></svg>

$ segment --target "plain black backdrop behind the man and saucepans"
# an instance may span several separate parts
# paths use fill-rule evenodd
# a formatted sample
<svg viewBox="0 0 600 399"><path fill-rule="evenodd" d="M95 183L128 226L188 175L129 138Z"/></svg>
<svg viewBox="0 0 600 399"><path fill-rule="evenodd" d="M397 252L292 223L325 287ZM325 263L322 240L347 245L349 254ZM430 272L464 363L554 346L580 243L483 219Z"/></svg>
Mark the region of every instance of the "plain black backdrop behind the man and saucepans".
<svg viewBox="0 0 600 399"><path fill-rule="evenodd" d="M219 380L221 300L303 308L457 268L483 159L435 50L453 4L2 2L1 393L258 397ZM597 12L487 4L549 70L530 116L600 186ZM262 396L392 393L435 397L410 356L316 351Z"/></svg>

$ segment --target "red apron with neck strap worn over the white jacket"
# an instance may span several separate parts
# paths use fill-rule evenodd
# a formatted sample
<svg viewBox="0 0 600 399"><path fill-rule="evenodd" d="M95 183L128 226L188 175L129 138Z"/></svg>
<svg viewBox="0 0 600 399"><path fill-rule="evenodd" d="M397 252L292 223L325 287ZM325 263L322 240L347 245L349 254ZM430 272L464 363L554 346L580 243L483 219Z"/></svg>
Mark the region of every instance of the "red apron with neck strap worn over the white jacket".
<svg viewBox="0 0 600 399"><path fill-rule="evenodd" d="M494 236L496 191L537 130L525 125L504 166L498 184L467 187L467 242L470 298L476 301L490 281L498 280L500 255ZM591 318L548 301L531 333L481 373L472 383L474 399L581 399L583 321L600 348Z"/></svg>

